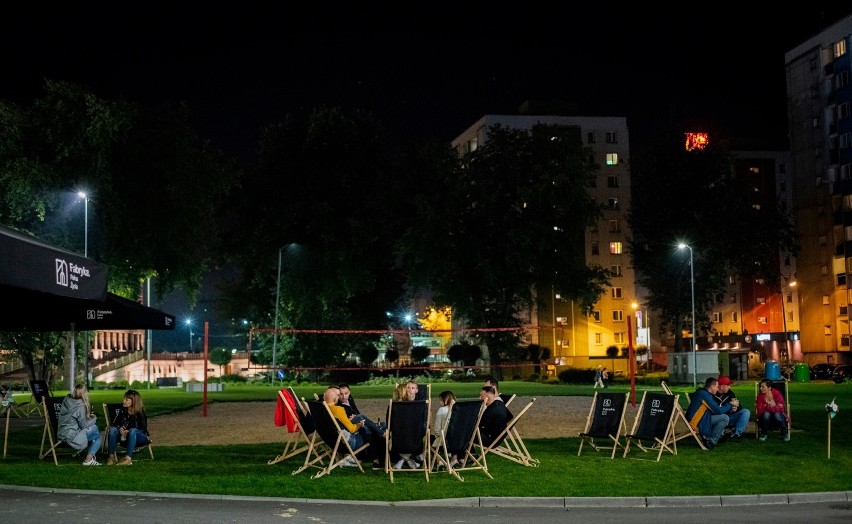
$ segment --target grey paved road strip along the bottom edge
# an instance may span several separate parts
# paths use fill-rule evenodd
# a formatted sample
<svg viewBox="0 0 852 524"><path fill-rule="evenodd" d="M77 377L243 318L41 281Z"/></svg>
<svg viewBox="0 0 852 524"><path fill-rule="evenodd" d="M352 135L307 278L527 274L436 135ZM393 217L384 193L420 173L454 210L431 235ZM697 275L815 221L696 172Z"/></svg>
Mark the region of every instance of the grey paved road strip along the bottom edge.
<svg viewBox="0 0 852 524"><path fill-rule="evenodd" d="M825 500L827 498L836 500ZM395 524L423 524L425 521L493 524L533 519L536 524L561 524L567 521L631 524L852 522L852 502L846 493L814 494L812 500L822 502L807 502L808 498L803 497L801 500L805 501L800 503L750 504L749 501L757 499L743 498L722 499L728 500L731 506L723 506L718 502L716 505L701 506L708 504L711 499L660 499L660 504L668 504L665 507L593 505L600 503L600 499L585 499L586 502L578 500L576 505L569 507L564 507L564 504L561 507L551 506L560 503L562 499L449 499L391 505L0 487L0 522L374 524L392 521ZM718 497L715 499L719 500ZM635 502L643 499L630 500Z"/></svg>

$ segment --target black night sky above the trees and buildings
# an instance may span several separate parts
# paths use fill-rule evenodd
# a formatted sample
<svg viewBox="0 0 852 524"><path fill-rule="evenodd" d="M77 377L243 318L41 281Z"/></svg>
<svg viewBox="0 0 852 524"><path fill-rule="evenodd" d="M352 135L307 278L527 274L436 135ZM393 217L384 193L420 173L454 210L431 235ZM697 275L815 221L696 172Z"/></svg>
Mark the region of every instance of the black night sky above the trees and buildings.
<svg viewBox="0 0 852 524"><path fill-rule="evenodd" d="M173 4L16 5L0 16L0 99L29 104L51 79L106 98L185 101L200 135L246 165L262 126L321 105L369 109L409 141L449 142L532 99L626 116L634 147L669 124L783 147L784 53L852 12L838 1L773 12ZM185 305L164 309L186 318ZM174 335L188 346L185 326Z"/></svg>

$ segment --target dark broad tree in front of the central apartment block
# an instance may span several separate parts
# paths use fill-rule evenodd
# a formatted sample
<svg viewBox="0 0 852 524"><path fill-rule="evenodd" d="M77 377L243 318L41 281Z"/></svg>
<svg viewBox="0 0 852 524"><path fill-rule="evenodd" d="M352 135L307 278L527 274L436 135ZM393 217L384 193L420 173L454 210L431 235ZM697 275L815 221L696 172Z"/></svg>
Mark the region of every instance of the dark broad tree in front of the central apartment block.
<svg viewBox="0 0 852 524"><path fill-rule="evenodd" d="M606 270L584 262L584 228L600 212L586 190L596 170L589 157L578 135L552 126L492 127L462 158L446 148L412 152L424 183L399 243L409 285L470 326L517 327L475 335L492 363L525 355L522 312L534 307L535 289L554 287L591 309L608 283Z"/></svg>

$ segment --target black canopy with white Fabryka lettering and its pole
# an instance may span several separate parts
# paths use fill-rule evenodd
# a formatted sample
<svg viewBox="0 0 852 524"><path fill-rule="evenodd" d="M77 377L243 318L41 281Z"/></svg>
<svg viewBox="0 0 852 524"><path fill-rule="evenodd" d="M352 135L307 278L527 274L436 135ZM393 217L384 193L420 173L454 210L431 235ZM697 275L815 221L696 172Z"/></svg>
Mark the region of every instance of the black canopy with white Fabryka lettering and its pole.
<svg viewBox="0 0 852 524"><path fill-rule="evenodd" d="M0 226L0 331L172 330L175 317L107 292L107 266ZM73 380L70 381L73 383Z"/></svg>

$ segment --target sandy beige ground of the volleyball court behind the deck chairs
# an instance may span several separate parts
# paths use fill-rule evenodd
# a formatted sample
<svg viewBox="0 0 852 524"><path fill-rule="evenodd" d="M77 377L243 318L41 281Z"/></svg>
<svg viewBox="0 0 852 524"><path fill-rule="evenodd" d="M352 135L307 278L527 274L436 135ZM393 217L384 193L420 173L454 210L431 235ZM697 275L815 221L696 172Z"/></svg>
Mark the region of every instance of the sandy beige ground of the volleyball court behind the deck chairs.
<svg viewBox="0 0 852 524"><path fill-rule="evenodd" d="M533 399L517 397L509 405L519 413ZM538 397L518 422L525 438L576 437L586 426L592 397ZM438 403L433 400L433 411ZM358 400L358 408L368 417L384 419L388 401ZM625 422L630 428L638 408L629 402ZM274 423L275 402L219 402L203 407L164 415L149 420L148 428L156 446L260 444L284 442L286 427Z"/></svg>

